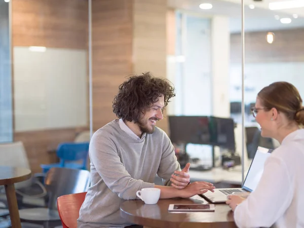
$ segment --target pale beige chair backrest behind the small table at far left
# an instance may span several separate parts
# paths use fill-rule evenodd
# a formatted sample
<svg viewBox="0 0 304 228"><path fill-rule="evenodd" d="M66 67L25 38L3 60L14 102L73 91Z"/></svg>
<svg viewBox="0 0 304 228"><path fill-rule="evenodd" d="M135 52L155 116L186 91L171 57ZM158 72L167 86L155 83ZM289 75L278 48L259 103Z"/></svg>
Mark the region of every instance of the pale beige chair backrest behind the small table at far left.
<svg viewBox="0 0 304 228"><path fill-rule="evenodd" d="M30 169L27 155L22 142L0 144L0 166L20 167ZM15 183L15 188L30 186L32 179Z"/></svg>

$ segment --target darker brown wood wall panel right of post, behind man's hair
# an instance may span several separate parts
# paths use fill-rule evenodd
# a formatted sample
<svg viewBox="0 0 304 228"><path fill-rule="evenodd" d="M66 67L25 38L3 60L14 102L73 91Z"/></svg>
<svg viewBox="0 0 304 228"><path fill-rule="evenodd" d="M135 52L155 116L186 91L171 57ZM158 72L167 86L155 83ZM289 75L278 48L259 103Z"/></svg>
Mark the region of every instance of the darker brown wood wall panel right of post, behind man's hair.
<svg viewBox="0 0 304 228"><path fill-rule="evenodd" d="M93 128L116 119L112 101L132 73L131 0L92 1Z"/></svg>

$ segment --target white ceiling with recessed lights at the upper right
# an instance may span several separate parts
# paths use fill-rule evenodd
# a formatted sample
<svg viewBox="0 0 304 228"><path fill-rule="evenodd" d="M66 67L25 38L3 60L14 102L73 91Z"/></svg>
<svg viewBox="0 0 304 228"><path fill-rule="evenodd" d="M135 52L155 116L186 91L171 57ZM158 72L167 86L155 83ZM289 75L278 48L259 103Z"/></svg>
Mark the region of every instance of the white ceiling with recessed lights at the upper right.
<svg viewBox="0 0 304 228"><path fill-rule="evenodd" d="M280 29L291 29L304 27L304 8L272 11L268 9L270 2L283 0L263 0L254 2L245 0L245 31L271 31ZM304 0L303 0L304 1ZM211 10L201 10L201 3L211 3ZM213 15L224 15L230 18L231 32L241 31L241 0L168 0L168 6L175 9L182 9L198 13L199 15L211 17ZM248 5L255 5L255 9L249 9ZM294 19L292 14L298 14ZM282 24L275 19L289 17L292 19L290 24Z"/></svg>

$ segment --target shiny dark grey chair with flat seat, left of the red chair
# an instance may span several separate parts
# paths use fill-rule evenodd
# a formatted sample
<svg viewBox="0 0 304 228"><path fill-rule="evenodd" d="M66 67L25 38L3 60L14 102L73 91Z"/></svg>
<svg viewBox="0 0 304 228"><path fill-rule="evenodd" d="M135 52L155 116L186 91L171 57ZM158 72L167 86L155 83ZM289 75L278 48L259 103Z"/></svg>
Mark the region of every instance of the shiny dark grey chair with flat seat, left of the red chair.
<svg viewBox="0 0 304 228"><path fill-rule="evenodd" d="M90 172L88 170L51 168L45 178L45 186L49 195L48 207L19 210L21 221L43 224L44 227L61 225L57 210L57 198L63 195L87 192L89 185Z"/></svg>

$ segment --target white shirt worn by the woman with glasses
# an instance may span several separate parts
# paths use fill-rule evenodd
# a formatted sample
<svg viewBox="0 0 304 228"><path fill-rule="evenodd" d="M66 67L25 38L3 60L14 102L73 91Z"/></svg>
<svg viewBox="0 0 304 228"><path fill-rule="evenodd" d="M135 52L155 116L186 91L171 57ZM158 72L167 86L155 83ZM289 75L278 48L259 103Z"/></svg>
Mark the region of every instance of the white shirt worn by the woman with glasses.
<svg viewBox="0 0 304 228"><path fill-rule="evenodd" d="M304 227L304 129L287 135L265 161L262 177L234 212L238 227Z"/></svg>

